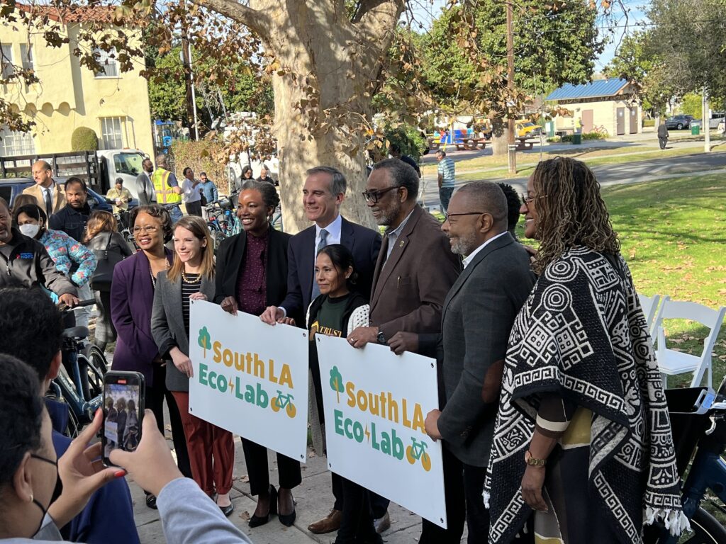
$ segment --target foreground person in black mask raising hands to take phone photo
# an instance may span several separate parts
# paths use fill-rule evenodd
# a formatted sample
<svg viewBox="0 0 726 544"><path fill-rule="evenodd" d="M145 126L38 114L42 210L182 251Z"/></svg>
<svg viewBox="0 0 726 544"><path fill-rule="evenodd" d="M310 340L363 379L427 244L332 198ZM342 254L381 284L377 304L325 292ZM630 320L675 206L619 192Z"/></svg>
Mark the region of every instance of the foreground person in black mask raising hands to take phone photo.
<svg viewBox="0 0 726 544"><path fill-rule="evenodd" d="M1 543L72 542L65 540L58 528L77 516L96 490L128 472L135 482L159 496L168 542L250 544L194 482L181 476L166 440L156 429L153 413L144 415L142 442L135 452L111 452L116 466L103 468L100 463L91 463L101 453L101 442L86 447L102 426L100 410L58 458L52 447L50 419L38 394L38 376L11 355L0 355L0 368L4 369L0 373L0 390L4 392L0 395L4 446L0 448ZM115 514L112 507L106 507ZM133 519L129 525L134 527Z"/></svg>

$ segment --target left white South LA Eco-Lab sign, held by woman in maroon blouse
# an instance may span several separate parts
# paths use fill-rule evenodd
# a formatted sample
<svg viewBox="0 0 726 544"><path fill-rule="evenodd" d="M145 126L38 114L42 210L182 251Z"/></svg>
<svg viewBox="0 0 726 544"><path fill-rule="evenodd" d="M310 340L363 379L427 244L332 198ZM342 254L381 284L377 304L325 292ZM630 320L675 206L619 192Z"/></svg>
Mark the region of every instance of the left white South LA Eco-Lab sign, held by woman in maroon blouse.
<svg viewBox="0 0 726 544"><path fill-rule="evenodd" d="M304 463L308 349L303 329L192 301L189 413Z"/></svg>

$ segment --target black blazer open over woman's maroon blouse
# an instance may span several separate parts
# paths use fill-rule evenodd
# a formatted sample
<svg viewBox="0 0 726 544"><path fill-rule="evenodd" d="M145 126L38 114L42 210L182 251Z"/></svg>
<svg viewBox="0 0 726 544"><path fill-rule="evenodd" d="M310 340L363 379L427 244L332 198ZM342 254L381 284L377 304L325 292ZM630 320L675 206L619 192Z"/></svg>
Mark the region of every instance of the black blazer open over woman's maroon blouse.
<svg viewBox="0 0 726 544"><path fill-rule="evenodd" d="M221 303L226 297L237 297L237 280L245 257L247 233L241 232L225 239L217 250L214 302ZM251 236L251 235L250 235ZM265 305L279 306L287 294L287 247L290 234L269 229L267 239L267 293ZM294 317L294 316L290 316Z"/></svg>

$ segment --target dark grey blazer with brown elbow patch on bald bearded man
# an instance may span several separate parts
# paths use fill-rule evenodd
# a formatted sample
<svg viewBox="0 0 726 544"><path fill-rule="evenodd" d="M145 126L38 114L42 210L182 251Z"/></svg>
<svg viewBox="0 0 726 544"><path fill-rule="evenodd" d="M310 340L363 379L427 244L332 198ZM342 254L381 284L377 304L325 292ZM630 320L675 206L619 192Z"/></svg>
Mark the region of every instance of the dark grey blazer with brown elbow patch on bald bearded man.
<svg viewBox="0 0 726 544"><path fill-rule="evenodd" d="M497 403L481 398L489 366L504 360L514 319L534 286L529 254L509 233L478 252L444 301L444 445L462 463L486 467Z"/></svg>

